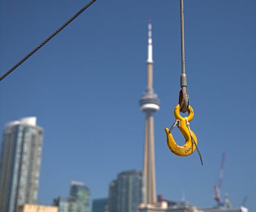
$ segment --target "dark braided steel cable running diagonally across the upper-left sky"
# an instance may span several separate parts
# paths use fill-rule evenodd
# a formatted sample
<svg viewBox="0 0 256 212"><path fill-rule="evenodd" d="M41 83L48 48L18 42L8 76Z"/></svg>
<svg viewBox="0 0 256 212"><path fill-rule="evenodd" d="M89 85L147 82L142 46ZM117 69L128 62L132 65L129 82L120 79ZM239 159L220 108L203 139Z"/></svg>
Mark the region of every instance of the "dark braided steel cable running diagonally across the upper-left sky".
<svg viewBox="0 0 256 212"><path fill-rule="evenodd" d="M43 45L45 45L50 39L52 39L57 33L59 33L65 26L67 26L71 21L73 21L78 15L80 15L84 10L89 8L96 0L92 0L89 2L86 6L84 6L81 10L79 10L72 18L70 18L66 23L64 23L62 26L60 26L59 29L57 29L53 34L51 34L45 41L41 42L37 47L35 47L30 53L24 57L22 60L20 60L15 66L13 66L10 70L8 70L5 74L3 74L0 77L0 81L3 80L9 73L11 73L15 68L17 68L19 65L21 65L24 61L26 61L31 55L33 55L39 48L41 48Z"/></svg>

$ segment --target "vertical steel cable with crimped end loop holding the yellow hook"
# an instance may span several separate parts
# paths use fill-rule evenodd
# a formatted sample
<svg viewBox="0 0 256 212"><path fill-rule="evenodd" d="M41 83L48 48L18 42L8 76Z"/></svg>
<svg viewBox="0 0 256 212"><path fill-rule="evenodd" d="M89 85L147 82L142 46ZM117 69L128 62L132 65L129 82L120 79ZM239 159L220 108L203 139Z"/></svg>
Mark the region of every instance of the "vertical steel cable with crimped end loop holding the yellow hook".
<svg viewBox="0 0 256 212"><path fill-rule="evenodd" d="M180 111L185 113L188 110L189 99L187 93L187 76L185 73L185 48L184 48L184 6L183 0L180 0L180 31L181 31L181 76L180 76L180 96L179 96L179 104Z"/></svg>

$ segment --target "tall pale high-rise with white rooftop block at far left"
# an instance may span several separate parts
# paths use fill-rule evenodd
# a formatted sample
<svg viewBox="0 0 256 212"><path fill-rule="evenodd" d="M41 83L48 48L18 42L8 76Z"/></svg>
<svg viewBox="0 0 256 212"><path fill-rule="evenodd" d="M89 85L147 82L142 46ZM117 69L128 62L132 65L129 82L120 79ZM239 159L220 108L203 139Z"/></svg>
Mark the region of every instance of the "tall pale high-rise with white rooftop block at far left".
<svg viewBox="0 0 256 212"><path fill-rule="evenodd" d="M43 129L36 117L6 124L0 162L0 211L37 204Z"/></svg>

